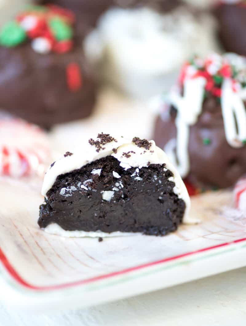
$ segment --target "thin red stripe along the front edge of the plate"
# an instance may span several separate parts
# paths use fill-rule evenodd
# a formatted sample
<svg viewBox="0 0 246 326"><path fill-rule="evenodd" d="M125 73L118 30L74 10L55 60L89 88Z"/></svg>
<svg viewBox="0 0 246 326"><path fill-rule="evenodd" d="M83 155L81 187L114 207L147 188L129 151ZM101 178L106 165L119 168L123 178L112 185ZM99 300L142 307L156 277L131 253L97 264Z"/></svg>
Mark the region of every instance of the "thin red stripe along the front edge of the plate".
<svg viewBox="0 0 246 326"><path fill-rule="evenodd" d="M223 243L223 244L214 245L214 246L203 248L203 249L196 250L196 251L191 251L191 252L188 252L188 253L185 253L185 254L182 254L182 255L178 255L178 256L173 256L173 257L169 257L169 258L165 258L165 259L160 259L160 260L152 261L150 263L146 263L146 264L142 264L142 265L138 265L138 266L126 268L126 269L123 269L121 271L112 272L112 273L109 273L109 274L103 274L103 275L95 276L95 277L88 278L88 279L85 279L85 280L80 280L80 281L71 282L71 283L65 283L65 284L60 284L60 285L44 286L44 287L38 287L38 286L31 285L28 282L26 282L16 272L16 270L12 267L12 265L8 261L7 257L5 256L5 254L3 253L3 251L1 250L1 248L0 248L0 261L3 263L3 265L5 266L5 268L8 271L8 273L19 284L21 284L22 286L24 286L24 287L26 287L28 289L44 291L44 290L63 289L63 288L67 288L67 287L72 287L72 286L78 286L78 285L93 283L93 282L104 280L104 279L107 279L107 278L110 278L110 277L113 277L113 276L119 276L119 275L127 274L127 273L130 273L130 272L134 272L134 271L138 271L138 270L144 269L146 267L151 267L151 266L159 265L159 264L166 263L166 262L173 261L173 260L177 260L177 259L180 259L180 258L183 258L183 257L192 256L192 255L197 254L197 253L202 253L202 252L210 251L212 249L218 249L218 248L221 248L221 247L225 247L225 246L228 246L228 245L231 245L231 244L236 244L236 243L240 243L240 242L244 242L244 241L246 241L246 238L238 239L238 240L231 241L231 242L226 242L226 243Z"/></svg>

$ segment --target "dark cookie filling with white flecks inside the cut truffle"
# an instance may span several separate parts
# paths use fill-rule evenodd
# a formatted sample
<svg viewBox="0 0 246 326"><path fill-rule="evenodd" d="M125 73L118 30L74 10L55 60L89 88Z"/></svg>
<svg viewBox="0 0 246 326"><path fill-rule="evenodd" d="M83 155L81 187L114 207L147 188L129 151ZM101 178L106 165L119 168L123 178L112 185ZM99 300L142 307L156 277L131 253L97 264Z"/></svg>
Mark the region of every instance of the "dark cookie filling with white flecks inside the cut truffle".
<svg viewBox="0 0 246 326"><path fill-rule="evenodd" d="M173 192L175 184L168 180L172 172L166 170L164 175L165 164L151 164L137 173L136 168L124 170L119 163L116 158L107 156L59 175L47 193L46 203L40 206L40 228L57 223L64 230L150 235L165 235L176 230L182 221L185 203ZM91 173L94 169L102 169L100 176ZM121 178L114 177L112 171ZM83 184L88 190L79 187ZM119 190L114 191L111 200L102 200L101 192L112 191L113 187Z"/></svg>

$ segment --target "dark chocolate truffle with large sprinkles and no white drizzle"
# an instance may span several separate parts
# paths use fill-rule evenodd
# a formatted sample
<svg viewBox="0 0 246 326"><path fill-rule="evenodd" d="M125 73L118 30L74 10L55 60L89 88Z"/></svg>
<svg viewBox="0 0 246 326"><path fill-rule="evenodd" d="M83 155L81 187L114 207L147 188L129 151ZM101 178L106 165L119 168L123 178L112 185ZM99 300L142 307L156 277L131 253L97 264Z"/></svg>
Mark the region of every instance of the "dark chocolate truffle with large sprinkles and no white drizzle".
<svg viewBox="0 0 246 326"><path fill-rule="evenodd" d="M89 116L96 83L82 48L86 33L71 10L55 5L28 6L7 22L0 107L45 128Z"/></svg>

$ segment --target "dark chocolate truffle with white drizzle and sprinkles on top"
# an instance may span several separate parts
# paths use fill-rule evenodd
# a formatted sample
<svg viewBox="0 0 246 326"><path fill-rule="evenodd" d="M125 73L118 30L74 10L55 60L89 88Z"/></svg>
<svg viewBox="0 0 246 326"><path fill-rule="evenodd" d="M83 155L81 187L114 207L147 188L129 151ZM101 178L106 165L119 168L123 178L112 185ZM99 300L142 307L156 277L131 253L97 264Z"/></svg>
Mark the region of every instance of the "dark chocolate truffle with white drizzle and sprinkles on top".
<svg viewBox="0 0 246 326"><path fill-rule="evenodd" d="M213 53L183 65L157 118L154 140L192 193L232 186L246 173L245 100L244 57Z"/></svg>

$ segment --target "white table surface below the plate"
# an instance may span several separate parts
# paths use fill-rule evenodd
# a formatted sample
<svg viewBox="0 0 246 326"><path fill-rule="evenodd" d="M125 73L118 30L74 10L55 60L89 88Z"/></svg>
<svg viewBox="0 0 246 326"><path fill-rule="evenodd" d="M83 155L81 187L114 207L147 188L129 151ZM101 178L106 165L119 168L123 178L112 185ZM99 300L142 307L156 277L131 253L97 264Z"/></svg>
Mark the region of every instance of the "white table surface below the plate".
<svg viewBox="0 0 246 326"><path fill-rule="evenodd" d="M41 315L0 302L1 326L241 326L246 323L246 267L141 296Z"/></svg>

